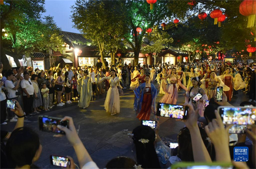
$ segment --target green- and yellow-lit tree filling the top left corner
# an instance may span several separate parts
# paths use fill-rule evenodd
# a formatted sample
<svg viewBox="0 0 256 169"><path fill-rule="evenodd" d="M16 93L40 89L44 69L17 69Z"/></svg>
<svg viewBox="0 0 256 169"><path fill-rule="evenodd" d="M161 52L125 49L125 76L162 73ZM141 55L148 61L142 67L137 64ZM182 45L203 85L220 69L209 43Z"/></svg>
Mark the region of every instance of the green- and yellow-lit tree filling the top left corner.
<svg viewBox="0 0 256 169"><path fill-rule="evenodd" d="M52 17L41 20L44 12L44 0L4 1L1 6L1 60L8 63L6 54L12 56L17 66L18 59L23 55L29 56L35 50L53 49L62 52L64 41L60 28L53 22ZM3 25L2 25L3 24ZM4 28L4 32L3 32ZM7 36L4 36L6 34ZM9 64L4 64L9 69Z"/></svg>

